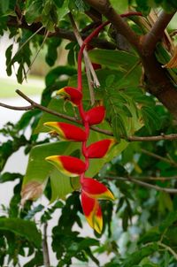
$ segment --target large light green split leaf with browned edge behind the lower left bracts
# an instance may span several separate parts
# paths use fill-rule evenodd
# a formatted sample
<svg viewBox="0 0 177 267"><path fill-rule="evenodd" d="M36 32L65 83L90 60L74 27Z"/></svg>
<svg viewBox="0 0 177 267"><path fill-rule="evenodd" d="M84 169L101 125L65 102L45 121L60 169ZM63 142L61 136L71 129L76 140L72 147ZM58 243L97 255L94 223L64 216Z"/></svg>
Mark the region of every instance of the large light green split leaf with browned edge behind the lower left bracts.
<svg viewBox="0 0 177 267"><path fill-rule="evenodd" d="M45 187L50 177L51 188L54 190L52 192L52 201L72 192L73 187L71 186L70 179L57 172L52 164L45 161L45 157L52 155L70 155L75 149L79 149L79 146L80 144L78 143L66 141L36 146L29 154L27 172L23 179L23 188L32 182L37 182L42 187Z"/></svg>

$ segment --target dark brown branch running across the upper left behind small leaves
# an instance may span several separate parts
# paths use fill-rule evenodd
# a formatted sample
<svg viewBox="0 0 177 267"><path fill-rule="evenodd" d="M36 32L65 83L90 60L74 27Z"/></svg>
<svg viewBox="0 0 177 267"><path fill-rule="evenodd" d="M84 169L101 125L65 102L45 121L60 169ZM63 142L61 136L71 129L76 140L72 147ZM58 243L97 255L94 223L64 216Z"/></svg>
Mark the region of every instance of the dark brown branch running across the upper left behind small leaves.
<svg viewBox="0 0 177 267"><path fill-rule="evenodd" d="M21 19L21 22L19 24L19 21L17 18L9 16L9 20L7 21L7 26L8 27L16 27L16 28L24 28L27 29L29 31L31 31L32 33L35 33L38 31L37 34L40 35L45 35L47 29L45 27L42 27L42 23L37 22L37 23L32 23L31 25L27 24L26 19L23 17ZM41 30L39 30L40 28L42 28ZM83 39L85 39L88 36L87 33L83 33L81 34L81 37ZM72 31L68 31L59 27L55 28L55 32L54 33L49 33L48 37L58 37L58 38L63 38L69 41L73 41L76 42L76 38L73 34ZM93 38L93 40L90 42L92 46L96 47L96 48L100 48L100 49L107 49L107 50L115 50L116 45L112 42L108 42L106 40L100 40L98 38Z"/></svg>

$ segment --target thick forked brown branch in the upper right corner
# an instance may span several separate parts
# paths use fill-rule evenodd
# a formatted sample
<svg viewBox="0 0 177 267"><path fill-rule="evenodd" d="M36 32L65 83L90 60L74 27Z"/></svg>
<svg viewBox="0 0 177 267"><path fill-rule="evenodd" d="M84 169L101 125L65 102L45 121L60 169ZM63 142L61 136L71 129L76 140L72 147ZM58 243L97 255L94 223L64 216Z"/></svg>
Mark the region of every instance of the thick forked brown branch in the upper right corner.
<svg viewBox="0 0 177 267"><path fill-rule="evenodd" d="M142 59L145 77L147 78L147 90L165 105L174 118L177 118L177 90L165 70L159 65L154 54L156 44L164 33L165 27L173 18L174 12L167 14L163 11L149 34L139 37L112 8L109 0L85 1L109 19L119 34L126 37L127 41L135 48Z"/></svg>

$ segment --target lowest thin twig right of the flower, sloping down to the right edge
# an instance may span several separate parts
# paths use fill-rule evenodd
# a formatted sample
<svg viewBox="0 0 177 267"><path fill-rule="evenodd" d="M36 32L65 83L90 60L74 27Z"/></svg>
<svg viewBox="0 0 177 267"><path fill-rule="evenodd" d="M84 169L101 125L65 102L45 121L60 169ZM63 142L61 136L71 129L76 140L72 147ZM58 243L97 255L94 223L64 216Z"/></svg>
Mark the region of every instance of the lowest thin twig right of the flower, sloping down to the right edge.
<svg viewBox="0 0 177 267"><path fill-rule="evenodd" d="M142 187L147 187L147 188L152 188L155 189L157 191L162 191L162 192L166 192L166 193L170 193L170 194L177 194L177 189L174 188L167 188L167 187L158 187L155 185L151 185L149 183L146 182L142 182L139 179L134 179L134 178L130 178L130 177L117 177L117 176L111 176L111 177L105 177L105 179L119 179L119 180L123 180L123 181L127 181L127 182L133 182L139 186Z"/></svg>

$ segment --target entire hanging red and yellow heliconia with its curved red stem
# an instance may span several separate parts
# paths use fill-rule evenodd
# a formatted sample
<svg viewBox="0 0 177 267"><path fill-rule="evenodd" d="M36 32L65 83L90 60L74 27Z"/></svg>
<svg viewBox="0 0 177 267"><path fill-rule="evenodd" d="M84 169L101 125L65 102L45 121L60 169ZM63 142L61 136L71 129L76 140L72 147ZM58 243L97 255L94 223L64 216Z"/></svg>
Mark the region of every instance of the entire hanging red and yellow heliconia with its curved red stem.
<svg viewBox="0 0 177 267"><path fill-rule="evenodd" d="M103 105L93 107L89 111L85 111L83 108L81 59L86 45L89 44L90 40L108 23L109 22L105 22L97 27L81 45L81 50L78 55L78 87L65 87L58 90L57 93L58 95L65 95L65 97L78 108L83 128L64 122L46 122L44 124L44 126L48 126L52 131L57 133L61 140L81 142L81 154L85 158L84 161L74 156L61 155L48 156L46 160L54 164L60 172L63 172L67 176L80 176L82 210L89 225L94 228L97 233L101 233L103 228L102 210L98 200L114 200L114 196L107 187L96 179L85 177L85 172L89 169L89 159L104 157L115 143L115 140L104 139L87 146L89 127L100 124L104 120L105 108Z"/></svg>

